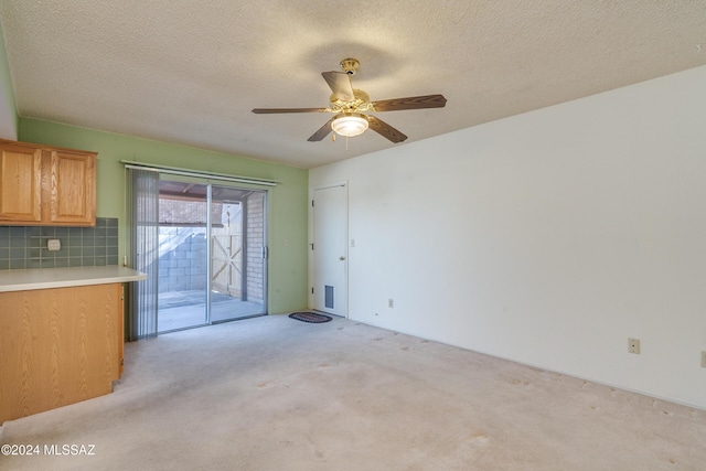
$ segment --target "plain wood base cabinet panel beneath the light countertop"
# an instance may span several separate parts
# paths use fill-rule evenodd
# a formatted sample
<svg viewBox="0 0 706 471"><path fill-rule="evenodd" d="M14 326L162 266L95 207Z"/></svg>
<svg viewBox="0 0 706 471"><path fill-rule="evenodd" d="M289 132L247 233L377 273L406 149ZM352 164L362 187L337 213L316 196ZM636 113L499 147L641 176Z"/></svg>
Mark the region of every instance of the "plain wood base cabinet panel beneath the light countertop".
<svg viewBox="0 0 706 471"><path fill-rule="evenodd" d="M122 283L0 292L0 424L113 392Z"/></svg>

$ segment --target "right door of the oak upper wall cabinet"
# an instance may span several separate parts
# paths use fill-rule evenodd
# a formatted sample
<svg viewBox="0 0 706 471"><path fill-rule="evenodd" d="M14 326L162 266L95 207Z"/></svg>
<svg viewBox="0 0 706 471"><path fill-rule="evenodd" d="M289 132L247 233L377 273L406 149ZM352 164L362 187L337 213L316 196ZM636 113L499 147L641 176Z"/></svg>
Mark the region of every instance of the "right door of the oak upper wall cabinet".
<svg viewBox="0 0 706 471"><path fill-rule="evenodd" d="M96 225L96 156L50 150L49 222Z"/></svg>

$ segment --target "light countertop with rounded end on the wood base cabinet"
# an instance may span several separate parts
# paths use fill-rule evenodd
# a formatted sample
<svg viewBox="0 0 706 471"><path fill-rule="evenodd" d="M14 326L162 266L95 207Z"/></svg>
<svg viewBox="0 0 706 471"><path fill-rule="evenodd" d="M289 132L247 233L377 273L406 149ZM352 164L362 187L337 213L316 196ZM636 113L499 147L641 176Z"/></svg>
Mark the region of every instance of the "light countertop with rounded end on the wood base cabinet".
<svg viewBox="0 0 706 471"><path fill-rule="evenodd" d="M147 275L118 265L2 270L0 271L0 292L106 285L143 279L147 279Z"/></svg>

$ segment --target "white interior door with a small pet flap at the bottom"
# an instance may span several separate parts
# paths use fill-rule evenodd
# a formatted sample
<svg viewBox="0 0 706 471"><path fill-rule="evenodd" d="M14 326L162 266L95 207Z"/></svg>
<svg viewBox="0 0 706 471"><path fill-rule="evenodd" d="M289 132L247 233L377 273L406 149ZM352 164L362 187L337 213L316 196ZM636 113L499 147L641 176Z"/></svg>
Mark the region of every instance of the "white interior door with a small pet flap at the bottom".
<svg viewBox="0 0 706 471"><path fill-rule="evenodd" d="M313 191L313 309L347 315L347 186Z"/></svg>

